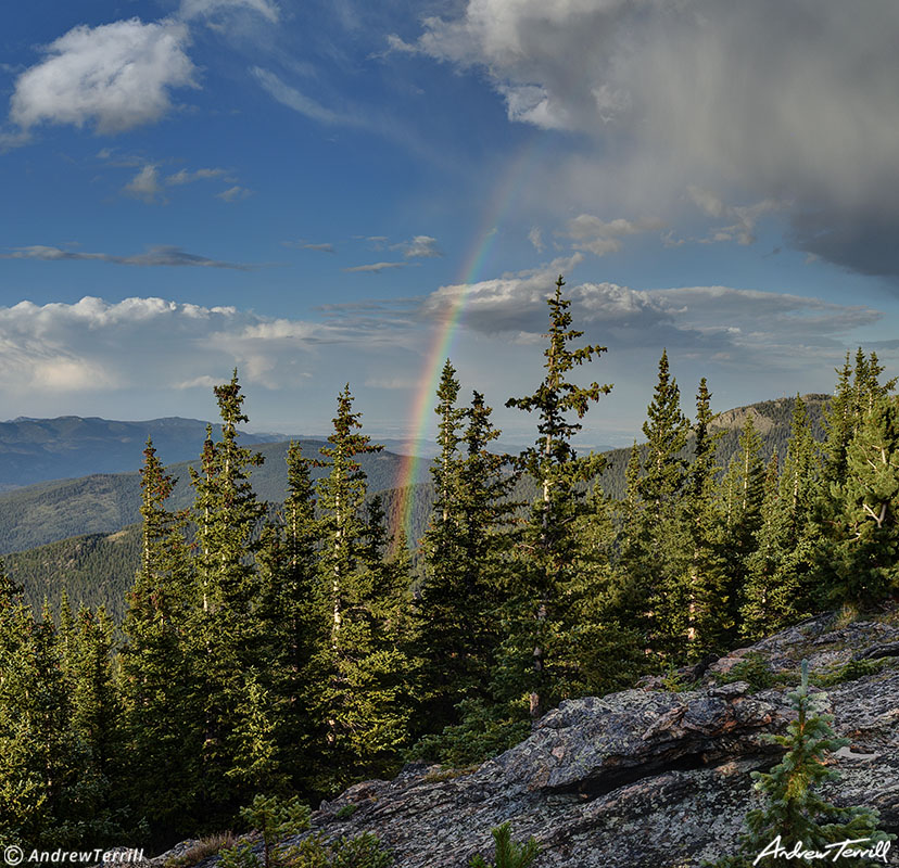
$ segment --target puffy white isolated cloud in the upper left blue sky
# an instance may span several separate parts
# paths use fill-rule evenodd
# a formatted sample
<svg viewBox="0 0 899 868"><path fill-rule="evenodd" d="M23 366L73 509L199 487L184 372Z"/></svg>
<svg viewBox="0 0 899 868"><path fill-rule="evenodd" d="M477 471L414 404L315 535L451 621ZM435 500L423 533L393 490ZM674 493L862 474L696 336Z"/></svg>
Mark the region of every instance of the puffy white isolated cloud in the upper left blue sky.
<svg viewBox="0 0 899 868"><path fill-rule="evenodd" d="M189 42L187 26L172 20L75 27L17 78L10 119L25 130L92 123L100 133L160 120L172 110L170 90L195 87Z"/></svg>

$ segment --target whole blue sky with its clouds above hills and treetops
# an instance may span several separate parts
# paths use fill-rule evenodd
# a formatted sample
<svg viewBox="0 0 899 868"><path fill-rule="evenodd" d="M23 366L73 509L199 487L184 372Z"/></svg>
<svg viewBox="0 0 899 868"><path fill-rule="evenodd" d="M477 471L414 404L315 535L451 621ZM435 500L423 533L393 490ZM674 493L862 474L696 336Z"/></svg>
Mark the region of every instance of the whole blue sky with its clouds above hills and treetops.
<svg viewBox="0 0 899 868"><path fill-rule="evenodd" d="M843 0L34 0L0 13L5 418L402 437L429 350L503 409L566 275L630 443L689 410L897 372L899 8Z"/></svg>

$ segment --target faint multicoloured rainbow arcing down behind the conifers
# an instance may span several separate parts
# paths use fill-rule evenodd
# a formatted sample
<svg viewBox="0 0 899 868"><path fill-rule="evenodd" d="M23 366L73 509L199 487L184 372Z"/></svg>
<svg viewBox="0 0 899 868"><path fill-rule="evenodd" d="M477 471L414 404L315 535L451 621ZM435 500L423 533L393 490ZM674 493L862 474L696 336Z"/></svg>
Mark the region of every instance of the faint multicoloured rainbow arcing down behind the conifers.
<svg viewBox="0 0 899 868"><path fill-rule="evenodd" d="M435 406L436 388L440 383L441 372L443 371L443 363L451 356L453 339L456 336L458 327L463 320L471 290L490 254L493 240L498 234L498 229L516 200L516 194L520 189L519 181L521 178L527 177L526 169L534 157L536 151L534 145L537 140L539 136L533 136L521 149L518 157L509 162L507 170L503 174L493 194L490 196L489 202L492 204L486 208L484 218L481 220L480 227L474 233L471 250L463 260L463 268L459 271L460 277L457 281L460 284L460 291L442 321L434 328L430 349L426 355L422 376L415 392L409 414L409 430L411 433L407 448L411 454L403 457L395 483L400 489L400 499L396 511L393 514L393 532L396 533L402 527L406 534L406 539L411 545L417 542L417 540L413 539L413 498L410 496L411 486L418 478L419 467L421 464L421 458L417 452L419 451L419 445L425 439L431 425L436 424L433 409Z"/></svg>

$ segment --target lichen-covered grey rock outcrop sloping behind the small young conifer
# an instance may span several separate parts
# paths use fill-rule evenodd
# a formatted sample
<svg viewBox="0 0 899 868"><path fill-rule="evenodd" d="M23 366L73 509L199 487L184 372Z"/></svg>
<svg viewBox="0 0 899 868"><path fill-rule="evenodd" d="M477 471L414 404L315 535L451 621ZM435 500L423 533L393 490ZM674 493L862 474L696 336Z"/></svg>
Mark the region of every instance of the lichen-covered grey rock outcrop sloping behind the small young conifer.
<svg viewBox="0 0 899 868"><path fill-rule="evenodd" d="M516 838L541 843L540 868L697 866L733 852L752 804L749 773L780 756L760 735L790 717L786 688L721 684L727 673L752 659L793 677L808 658L813 672L838 675L853 660L879 659L882 669L827 690L834 726L851 739L832 757L841 779L827 795L877 807L882 828L899 832L896 641L889 618L843 627L816 618L716 661L693 690L649 684L564 702L530 738L474 770L408 766L322 803L314 822L329 835L377 833L402 868L463 868L506 820ZM356 809L341 819L345 805Z"/></svg>

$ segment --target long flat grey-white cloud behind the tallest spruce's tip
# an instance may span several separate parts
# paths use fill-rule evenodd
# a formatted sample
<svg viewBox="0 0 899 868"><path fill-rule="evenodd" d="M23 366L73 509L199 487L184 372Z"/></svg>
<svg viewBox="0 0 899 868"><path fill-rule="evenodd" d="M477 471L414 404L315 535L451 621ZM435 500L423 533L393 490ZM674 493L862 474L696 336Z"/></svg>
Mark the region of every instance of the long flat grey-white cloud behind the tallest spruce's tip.
<svg viewBox="0 0 899 868"><path fill-rule="evenodd" d="M518 343L542 340L546 298L561 265L557 260L530 273L442 286L423 301L421 315L442 320L464 305L463 322L472 332L502 333ZM854 329L882 317L864 305L730 286L633 290L581 283L566 294L585 340L644 354L668 346L721 363L767 369L834 357L852 341L847 335Z"/></svg>

